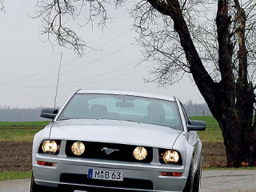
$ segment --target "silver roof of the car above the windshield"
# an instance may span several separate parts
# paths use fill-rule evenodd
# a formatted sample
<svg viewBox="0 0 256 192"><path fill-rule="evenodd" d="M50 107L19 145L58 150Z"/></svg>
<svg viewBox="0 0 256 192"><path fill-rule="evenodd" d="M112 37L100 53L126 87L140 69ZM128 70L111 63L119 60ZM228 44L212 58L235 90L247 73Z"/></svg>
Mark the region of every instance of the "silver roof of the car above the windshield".
<svg viewBox="0 0 256 192"><path fill-rule="evenodd" d="M151 93L133 91L133 90L78 90L77 94L123 94L123 95L138 96L138 97L145 97L145 98L158 98L158 99L168 100L172 102L176 101L176 98L173 96L167 96L162 94L151 94Z"/></svg>

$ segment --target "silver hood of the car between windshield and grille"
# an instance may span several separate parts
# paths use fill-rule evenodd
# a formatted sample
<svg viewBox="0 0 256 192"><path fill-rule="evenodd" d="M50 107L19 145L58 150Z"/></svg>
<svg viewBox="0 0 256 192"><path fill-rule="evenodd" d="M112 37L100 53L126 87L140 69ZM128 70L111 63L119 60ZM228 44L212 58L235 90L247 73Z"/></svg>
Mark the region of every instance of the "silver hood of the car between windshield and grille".
<svg viewBox="0 0 256 192"><path fill-rule="evenodd" d="M181 133L170 127L146 123L72 119L55 122L50 138L170 148Z"/></svg>

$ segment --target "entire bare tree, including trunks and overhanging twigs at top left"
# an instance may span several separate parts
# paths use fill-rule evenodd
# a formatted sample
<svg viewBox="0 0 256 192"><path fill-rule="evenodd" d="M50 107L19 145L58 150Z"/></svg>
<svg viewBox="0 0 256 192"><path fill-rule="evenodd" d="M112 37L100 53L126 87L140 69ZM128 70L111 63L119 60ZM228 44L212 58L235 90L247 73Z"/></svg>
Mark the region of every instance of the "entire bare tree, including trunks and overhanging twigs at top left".
<svg viewBox="0 0 256 192"><path fill-rule="evenodd" d="M122 0L38 0L43 34L82 54L85 42L68 25L107 19ZM228 166L256 166L254 0L142 0L134 2L146 60L157 62L150 81L162 86L191 75L222 129Z"/></svg>

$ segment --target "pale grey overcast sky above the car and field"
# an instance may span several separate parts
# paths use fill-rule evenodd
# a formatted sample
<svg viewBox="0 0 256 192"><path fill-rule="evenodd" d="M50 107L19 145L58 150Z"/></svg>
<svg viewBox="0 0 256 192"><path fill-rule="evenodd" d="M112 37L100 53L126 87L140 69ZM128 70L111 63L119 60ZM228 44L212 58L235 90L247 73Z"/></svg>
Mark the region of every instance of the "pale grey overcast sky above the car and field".
<svg viewBox="0 0 256 192"><path fill-rule="evenodd" d="M91 26L79 29L88 46L98 49L86 50L86 56L79 58L73 50L45 42L40 20L29 17L34 15L34 5L35 1L6 1L6 13L0 12L0 106L54 106L61 53L57 106L80 88L141 90L174 95L182 102L204 102L187 77L166 88L144 82L150 78L152 63L137 65L142 55L140 47L132 45L136 34L125 9L111 13L117 18L104 33Z"/></svg>

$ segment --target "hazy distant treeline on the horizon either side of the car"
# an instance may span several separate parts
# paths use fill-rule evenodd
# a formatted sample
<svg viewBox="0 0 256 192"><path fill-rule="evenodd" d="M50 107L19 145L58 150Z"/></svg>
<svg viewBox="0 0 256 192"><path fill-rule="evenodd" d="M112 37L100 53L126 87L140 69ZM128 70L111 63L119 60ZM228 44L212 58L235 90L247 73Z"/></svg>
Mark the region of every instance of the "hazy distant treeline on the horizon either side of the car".
<svg viewBox="0 0 256 192"><path fill-rule="evenodd" d="M185 104L189 116L211 115L206 104L193 104L191 101ZM0 106L0 122L38 122L46 121L40 118L42 107L37 108L10 108Z"/></svg>

